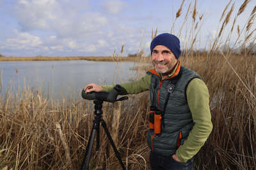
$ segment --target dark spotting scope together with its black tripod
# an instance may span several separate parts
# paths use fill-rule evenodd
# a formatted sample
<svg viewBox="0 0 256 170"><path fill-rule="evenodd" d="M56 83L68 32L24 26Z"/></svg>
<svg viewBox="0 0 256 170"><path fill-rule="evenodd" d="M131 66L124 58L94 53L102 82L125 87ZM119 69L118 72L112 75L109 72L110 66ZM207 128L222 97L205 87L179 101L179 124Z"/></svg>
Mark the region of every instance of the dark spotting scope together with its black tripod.
<svg viewBox="0 0 256 170"><path fill-rule="evenodd" d="M116 85L110 92L90 92L87 93L84 91L84 89L82 90L82 97L83 99L88 99L88 100L94 100L93 103L95 104L94 108L94 120L93 120L93 127L92 127L92 132L90 134L90 138L89 138L89 142L86 146L86 152L84 154L84 159L83 159L83 163L81 165L81 170L89 169L89 163L90 163L90 159L92 156L92 148L93 148L93 142L95 140L95 135L97 134L97 138L96 138L96 150L99 150L99 143L100 143L100 123L102 125L102 127L104 128L104 131L106 132L106 135L108 136L109 142L111 143L111 146L115 152L116 158L118 159L118 161L120 162L120 165L122 166L122 169L125 170L125 166L124 163L122 162L122 159L120 157L120 153L118 152L118 150L116 149L115 143L113 141L113 139L111 138L111 135L109 134L106 122L103 120L102 118L102 103L104 101L106 102L110 102L110 103L114 103L115 101L124 101L126 99L128 99L127 96L125 97L120 97L117 99L118 95L123 94L125 91L124 87L120 86L120 85ZM84 164L85 163L85 164Z"/></svg>

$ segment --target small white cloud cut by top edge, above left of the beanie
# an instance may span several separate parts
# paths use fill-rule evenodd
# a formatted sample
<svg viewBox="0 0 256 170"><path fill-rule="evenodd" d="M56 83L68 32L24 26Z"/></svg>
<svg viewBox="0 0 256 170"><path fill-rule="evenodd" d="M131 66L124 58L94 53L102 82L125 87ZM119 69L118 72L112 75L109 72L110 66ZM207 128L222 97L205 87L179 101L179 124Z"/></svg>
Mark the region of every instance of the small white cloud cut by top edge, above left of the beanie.
<svg viewBox="0 0 256 170"><path fill-rule="evenodd" d="M117 14L123 10L125 3L120 0L106 0L104 1L103 6L104 10L108 13Z"/></svg>

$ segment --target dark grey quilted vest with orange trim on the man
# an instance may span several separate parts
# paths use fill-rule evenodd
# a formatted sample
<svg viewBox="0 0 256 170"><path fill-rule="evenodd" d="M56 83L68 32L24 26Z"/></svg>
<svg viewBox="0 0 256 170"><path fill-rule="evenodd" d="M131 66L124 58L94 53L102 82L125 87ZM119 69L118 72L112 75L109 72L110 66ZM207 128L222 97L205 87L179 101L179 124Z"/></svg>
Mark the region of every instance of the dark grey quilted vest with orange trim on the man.
<svg viewBox="0 0 256 170"><path fill-rule="evenodd" d="M200 78L195 71L186 67L180 67L179 74L170 80L159 79L155 71L148 71L152 75L150 82L150 103L163 111L168 88L175 81L175 88L170 93L164 117L162 115L161 134L156 135L154 130L149 129L147 136L148 147L159 155L173 155L177 148L188 138L194 122L191 117L188 102L186 100L186 88L193 78ZM170 90L169 90L170 92ZM153 99L155 97L155 99Z"/></svg>

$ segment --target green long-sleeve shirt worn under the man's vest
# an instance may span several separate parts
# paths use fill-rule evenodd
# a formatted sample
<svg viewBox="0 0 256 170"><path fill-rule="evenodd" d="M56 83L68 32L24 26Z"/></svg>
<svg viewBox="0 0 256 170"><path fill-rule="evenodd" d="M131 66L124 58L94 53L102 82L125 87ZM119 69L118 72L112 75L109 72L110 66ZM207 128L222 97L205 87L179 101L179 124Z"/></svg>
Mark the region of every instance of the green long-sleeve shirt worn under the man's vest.
<svg viewBox="0 0 256 170"><path fill-rule="evenodd" d="M173 71L174 73L175 71ZM170 76L172 76L172 74ZM143 76L138 81L120 84L127 94L138 94L149 90L151 76ZM105 92L109 92L115 85L103 86ZM209 108L209 92L204 81L194 78L190 81L186 91L189 109L195 125L189 132L188 139L184 141L176 151L179 160L186 162L191 159L204 145L212 131L211 112Z"/></svg>

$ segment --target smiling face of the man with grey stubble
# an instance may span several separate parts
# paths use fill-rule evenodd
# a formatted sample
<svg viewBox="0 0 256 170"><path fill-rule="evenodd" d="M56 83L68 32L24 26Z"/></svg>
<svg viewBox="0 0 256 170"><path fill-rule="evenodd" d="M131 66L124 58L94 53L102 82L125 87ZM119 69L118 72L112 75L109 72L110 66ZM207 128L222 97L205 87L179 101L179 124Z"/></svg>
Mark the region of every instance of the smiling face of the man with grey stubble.
<svg viewBox="0 0 256 170"><path fill-rule="evenodd" d="M175 55L166 46L157 45L152 50L152 63L158 73L167 73L176 62Z"/></svg>

